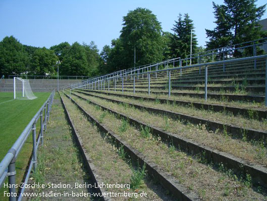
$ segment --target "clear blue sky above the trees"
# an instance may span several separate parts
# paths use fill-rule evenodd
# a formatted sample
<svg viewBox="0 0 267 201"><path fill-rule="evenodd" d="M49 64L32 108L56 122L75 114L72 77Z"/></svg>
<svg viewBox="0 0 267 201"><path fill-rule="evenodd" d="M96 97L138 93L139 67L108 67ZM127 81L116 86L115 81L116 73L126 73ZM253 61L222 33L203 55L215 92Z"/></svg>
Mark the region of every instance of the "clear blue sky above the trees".
<svg viewBox="0 0 267 201"><path fill-rule="evenodd" d="M223 0L214 1L223 4ZM265 3L266 0L256 2L258 6ZM0 0L0 40L13 35L22 44L46 48L61 42L94 41L101 51L119 37L123 16L137 7L151 10L163 31L170 32L178 14L188 13L201 46L207 41L205 28L215 27L209 0ZM266 13L262 19L265 18Z"/></svg>

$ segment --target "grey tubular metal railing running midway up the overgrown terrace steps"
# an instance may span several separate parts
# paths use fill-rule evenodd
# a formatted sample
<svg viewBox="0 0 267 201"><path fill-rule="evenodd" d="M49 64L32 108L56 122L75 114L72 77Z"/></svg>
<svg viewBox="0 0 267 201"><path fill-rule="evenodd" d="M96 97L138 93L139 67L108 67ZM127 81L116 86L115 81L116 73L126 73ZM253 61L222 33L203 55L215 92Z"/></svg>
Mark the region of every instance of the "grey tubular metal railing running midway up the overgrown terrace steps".
<svg viewBox="0 0 267 201"><path fill-rule="evenodd" d="M200 73L200 70L201 70L201 67L204 67L205 68L205 87L204 87L204 90L205 90L205 93L204 93L204 99L205 101L207 100L207 76L208 76L208 66L212 66L212 67L215 67L215 68L223 68L225 69L225 65L224 64L227 64L227 63L234 63L234 62L240 62L240 61L248 61L248 60L257 60L257 59L265 59L265 106L267 106L267 55L260 55L260 56L252 56L252 57L245 57L245 58L238 58L238 59L231 59L231 60L224 60L224 61L216 61L216 62L208 62L208 63L202 63L202 64L194 64L194 65L189 65L189 66L184 66L184 67L175 67L175 68L169 68L169 69L161 69L161 70L155 70L155 71L148 71L148 72L142 72L142 73L136 73L136 74L133 74L133 75L123 75L120 77L120 82L121 82L121 85L122 85L122 92L124 92L124 79L127 80L127 77L131 76L133 77L133 93L135 93L135 78L137 76L143 76L144 74L146 75L146 77L148 78L148 94L150 95L150 74L156 74L156 73L159 73L159 72L167 72L167 76L168 76L168 95L169 97L171 96L171 73L172 71L174 70L180 70L180 75L182 75L182 69L188 69L188 68L195 68L195 67L199 67L199 73ZM221 65L221 66L220 66ZM106 78L104 80L101 80L101 81L96 81L94 83L90 83L90 84L87 84L87 85L84 85L84 86L80 86L80 87L77 87L77 88L73 88L73 89L70 89L70 96L71 96L71 90L74 90L74 89L78 89L78 88L81 88L81 89L94 89L96 90L97 87L96 87L96 83L98 84L98 90L105 90L105 82L108 82L108 91L110 91L110 80L112 78ZM101 82L101 85L100 85L100 82ZM103 83L103 88L102 88L102 83ZM95 84L95 85L94 85ZM115 79L115 82L114 82L114 90L116 91L116 79Z"/></svg>

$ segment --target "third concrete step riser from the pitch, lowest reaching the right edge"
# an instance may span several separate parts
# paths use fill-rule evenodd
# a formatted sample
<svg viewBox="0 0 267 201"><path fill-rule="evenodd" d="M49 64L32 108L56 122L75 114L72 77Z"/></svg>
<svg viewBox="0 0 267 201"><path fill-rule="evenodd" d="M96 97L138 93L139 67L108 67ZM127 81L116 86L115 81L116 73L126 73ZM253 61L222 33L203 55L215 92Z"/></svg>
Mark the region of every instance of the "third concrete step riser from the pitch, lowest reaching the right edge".
<svg viewBox="0 0 267 201"><path fill-rule="evenodd" d="M85 98L82 99L86 100ZM243 175L250 174L252 178L252 183L256 185L260 184L264 187L267 187L267 169L264 167L248 165L243 162L242 159L234 157L228 153L221 152L216 149L211 149L210 147L203 146L188 139L179 138L178 136L164 132L159 128L146 125L145 123L142 123L139 120L133 119L129 116L125 116L124 114L101 106L93 101L90 101L90 104L98 105L103 110L107 110L115 114L116 116L119 116L120 118L129 119L129 123L132 126L135 126L137 129L140 129L141 126L149 127L151 129L152 135L159 136L161 137L161 139L167 141L168 143L172 143L177 148L185 150L192 155L201 154L205 152L205 158L208 161L212 161L215 164L223 163L225 167L227 167L228 169L232 169L236 174L240 174L240 172Z"/></svg>

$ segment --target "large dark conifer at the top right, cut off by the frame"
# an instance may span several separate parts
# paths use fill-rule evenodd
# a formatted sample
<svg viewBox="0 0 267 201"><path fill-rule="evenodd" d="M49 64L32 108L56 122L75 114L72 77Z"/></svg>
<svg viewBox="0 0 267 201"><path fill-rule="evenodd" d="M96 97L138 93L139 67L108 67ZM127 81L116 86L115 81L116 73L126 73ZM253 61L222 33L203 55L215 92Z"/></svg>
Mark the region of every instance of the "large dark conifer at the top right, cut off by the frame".
<svg viewBox="0 0 267 201"><path fill-rule="evenodd" d="M258 20L265 12L265 5L256 8L255 0L225 0L225 5L213 2L217 26L206 29L208 49L253 41L266 36Z"/></svg>

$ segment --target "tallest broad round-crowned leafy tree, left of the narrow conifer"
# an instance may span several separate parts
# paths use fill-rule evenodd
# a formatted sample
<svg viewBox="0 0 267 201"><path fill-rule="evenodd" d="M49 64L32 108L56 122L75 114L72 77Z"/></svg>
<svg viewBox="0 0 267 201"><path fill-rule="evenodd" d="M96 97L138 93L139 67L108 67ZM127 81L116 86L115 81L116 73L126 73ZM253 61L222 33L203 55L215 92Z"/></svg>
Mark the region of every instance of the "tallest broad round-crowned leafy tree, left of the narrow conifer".
<svg viewBox="0 0 267 201"><path fill-rule="evenodd" d="M148 9L137 8L123 17L120 40L125 59L121 68L161 61L163 58L162 27L156 16Z"/></svg>

